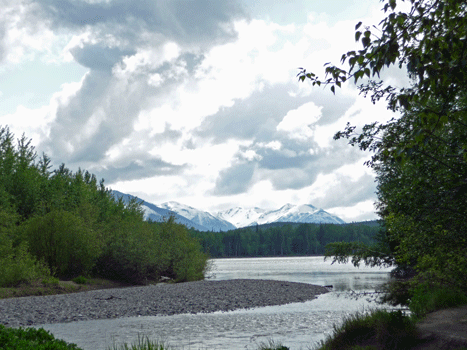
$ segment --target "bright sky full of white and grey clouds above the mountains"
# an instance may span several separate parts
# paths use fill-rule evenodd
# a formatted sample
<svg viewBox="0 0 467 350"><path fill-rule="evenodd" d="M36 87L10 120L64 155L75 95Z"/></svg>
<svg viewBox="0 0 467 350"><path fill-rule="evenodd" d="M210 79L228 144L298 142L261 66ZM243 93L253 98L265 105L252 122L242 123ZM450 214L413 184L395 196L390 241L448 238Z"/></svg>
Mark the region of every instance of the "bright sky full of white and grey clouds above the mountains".
<svg viewBox="0 0 467 350"><path fill-rule="evenodd" d="M326 62L358 49L377 0L0 0L0 126L39 155L158 204L215 212L312 204L375 219L371 154L333 140L384 122ZM383 76L406 84L403 71Z"/></svg>

